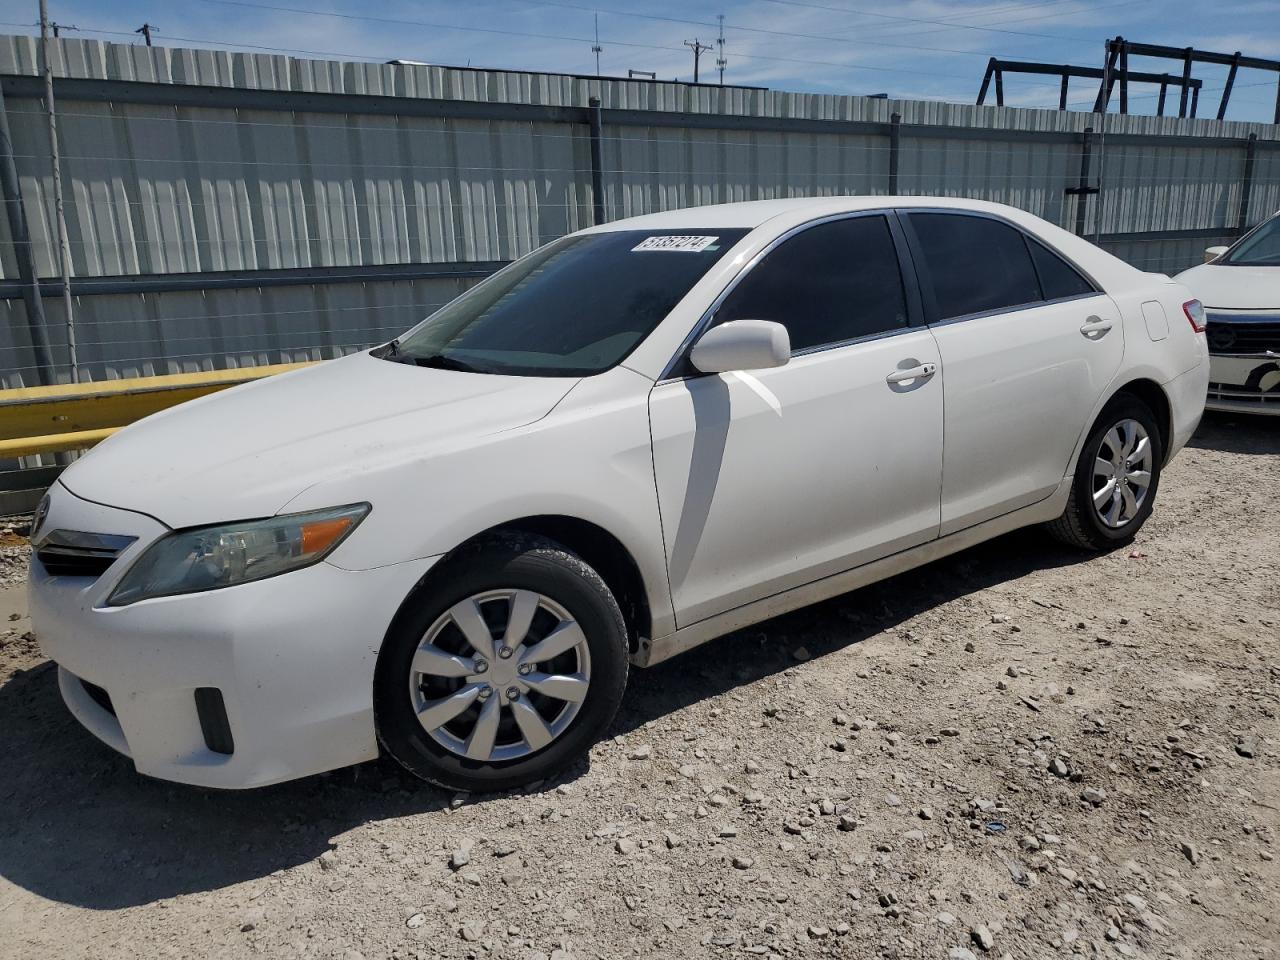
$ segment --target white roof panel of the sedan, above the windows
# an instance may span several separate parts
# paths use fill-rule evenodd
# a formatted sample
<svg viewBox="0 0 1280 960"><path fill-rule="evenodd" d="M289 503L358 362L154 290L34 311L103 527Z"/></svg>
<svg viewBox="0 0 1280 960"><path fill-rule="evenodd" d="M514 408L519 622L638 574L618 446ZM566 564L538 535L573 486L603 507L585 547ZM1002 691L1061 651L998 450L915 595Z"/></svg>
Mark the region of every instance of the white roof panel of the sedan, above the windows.
<svg viewBox="0 0 1280 960"><path fill-rule="evenodd" d="M658 214L643 214L623 220L591 227L584 233L609 230L669 230L698 228L746 228L754 229L776 216L800 215L805 219L833 214L858 212L861 210L884 210L888 207L933 207L973 210L1010 215L1015 207L992 204L986 200L966 200L961 197L786 197L781 200L751 200L742 204L710 204L690 206L680 210L664 210Z"/></svg>

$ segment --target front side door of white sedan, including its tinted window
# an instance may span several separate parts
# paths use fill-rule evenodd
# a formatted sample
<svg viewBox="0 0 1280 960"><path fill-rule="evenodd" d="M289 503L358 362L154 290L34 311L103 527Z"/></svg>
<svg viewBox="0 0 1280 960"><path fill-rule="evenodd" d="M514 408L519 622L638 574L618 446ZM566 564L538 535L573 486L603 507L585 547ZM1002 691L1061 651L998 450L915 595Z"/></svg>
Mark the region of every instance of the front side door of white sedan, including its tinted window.
<svg viewBox="0 0 1280 960"><path fill-rule="evenodd" d="M781 239L710 323L781 323L791 361L718 375L686 367L654 387L680 626L937 536L938 353L904 284L897 230L878 212Z"/></svg>

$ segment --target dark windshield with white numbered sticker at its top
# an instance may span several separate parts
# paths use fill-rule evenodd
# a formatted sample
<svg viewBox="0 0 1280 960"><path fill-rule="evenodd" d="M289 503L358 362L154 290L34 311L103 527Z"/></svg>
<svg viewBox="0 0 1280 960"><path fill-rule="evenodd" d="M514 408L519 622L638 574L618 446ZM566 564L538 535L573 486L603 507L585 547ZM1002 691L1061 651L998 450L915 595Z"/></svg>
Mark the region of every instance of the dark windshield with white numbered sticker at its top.
<svg viewBox="0 0 1280 960"><path fill-rule="evenodd" d="M648 337L745 234L685 229L563 237L467 291L376 355L483 374L599 374Z"/></svg>

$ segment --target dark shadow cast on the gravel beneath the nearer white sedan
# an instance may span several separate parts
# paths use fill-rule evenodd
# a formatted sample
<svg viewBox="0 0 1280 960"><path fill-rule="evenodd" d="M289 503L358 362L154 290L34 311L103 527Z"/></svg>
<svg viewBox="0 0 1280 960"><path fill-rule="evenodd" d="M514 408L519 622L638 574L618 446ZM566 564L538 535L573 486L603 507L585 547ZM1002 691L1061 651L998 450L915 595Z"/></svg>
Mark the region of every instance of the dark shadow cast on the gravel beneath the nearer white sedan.
<svg viewBox="0 0 1280 960"><path fill-rule="evenodd" d="M822 657L940 603L1085 558L1020 531L721 637L636 671L611 733L786 669L799 643ZM419 785L385 759L246 792L151 780L70 717L55 675L42 663L0 685L0 876L47 900L111 910L216 890L314 860L364 823L492 799ZM588 763L526 792L573 781Z"/></svg>

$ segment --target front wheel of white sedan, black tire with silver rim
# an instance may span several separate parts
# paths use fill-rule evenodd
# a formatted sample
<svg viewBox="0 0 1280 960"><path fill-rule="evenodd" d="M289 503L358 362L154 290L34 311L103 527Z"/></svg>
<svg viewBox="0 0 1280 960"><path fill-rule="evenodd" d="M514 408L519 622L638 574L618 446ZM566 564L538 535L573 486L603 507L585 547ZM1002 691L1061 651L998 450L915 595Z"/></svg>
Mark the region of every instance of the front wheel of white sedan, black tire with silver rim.
<svg viewBox="0 0 1280 960"><path fill-rule="evenodd" d="M485 636L493 645L481 652ZM539 652L554 655L529 659ZM600 575L545 538L499 536L447 561L397 616L374 680L378 739L436 786L520 787L562 772L608 730L627 664L626 623Z"/></svg>

